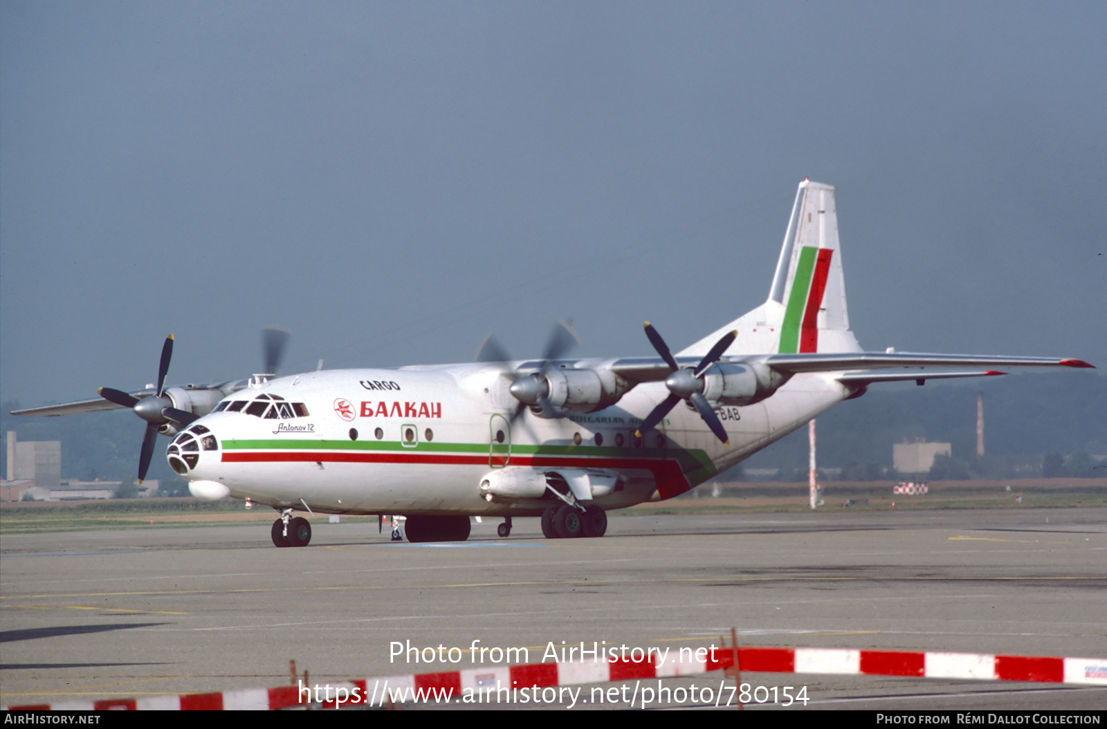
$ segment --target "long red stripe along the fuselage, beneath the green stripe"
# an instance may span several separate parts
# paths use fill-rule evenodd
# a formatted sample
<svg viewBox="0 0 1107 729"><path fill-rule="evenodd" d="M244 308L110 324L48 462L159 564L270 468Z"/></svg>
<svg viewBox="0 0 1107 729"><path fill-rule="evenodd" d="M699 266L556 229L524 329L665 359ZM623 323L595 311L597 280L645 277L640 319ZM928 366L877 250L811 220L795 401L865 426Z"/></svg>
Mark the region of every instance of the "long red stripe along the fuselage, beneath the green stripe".
<svg viewBox="0 0 1107 729"><path fill-rule="evenodd" d="M327 461L329 464L441 464L444 466L488 466L488 456L455 456L446 454L431 455L413 452L359 454L349 451L224 451L223 454L223 462L225 464L314 464L322 461ZM662 499L671 499L674 496L680 496L692 488L687 479L684 478L684 472L681 470L680 464L670 459L511 456L510 465L531 466L535 468L542 468L546 466L566 466L577 468L646 469L653 473L653 479L658 485L658 493Z"/></svg>

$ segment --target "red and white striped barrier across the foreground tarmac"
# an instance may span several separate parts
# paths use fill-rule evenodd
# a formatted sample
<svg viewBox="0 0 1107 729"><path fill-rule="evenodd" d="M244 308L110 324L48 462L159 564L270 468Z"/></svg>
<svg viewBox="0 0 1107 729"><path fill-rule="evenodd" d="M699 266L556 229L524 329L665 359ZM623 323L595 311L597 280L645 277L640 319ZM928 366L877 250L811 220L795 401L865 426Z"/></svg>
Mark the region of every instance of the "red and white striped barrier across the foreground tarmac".
<svg viewBox="0 0 1107 729"><path fill-rule="evenodd" d="M603 684L642 678L692 676L730 668L733 649L716 648L704 660L665 662L654 665L654 655L639 663L621 659L598 662L541 663L518 666L482 666L464 670L406 676L379 676L350 681L328 683L327 699L344 689L346 697L361 696L348 704L383 705L389 689L433 698L433 691L449 690L461 698L468 690L494 687L550 687L577 684ZM920 650L858 650L853 648L738 648L738 668L743 671L775 674L839 674L867 676L914 676L919 678L961 678L979 680L1042 681L1049 684L1090 684L1107 686L1107 658L1058 658L1048 656L1002 656L977 653ZM312 684L312 687L315 685ZM358 689L359 694L354 694ZM307 695L307 698L304 698ZM370 698L372 697L372 699ZM317 701L307 686L279 686L216 694L183 694L149 698L106 699L102 701L63 701L6 706L8 710L104 711L108 709L230 710L284 709L303 704L334 706L334 700Z"/></svg>

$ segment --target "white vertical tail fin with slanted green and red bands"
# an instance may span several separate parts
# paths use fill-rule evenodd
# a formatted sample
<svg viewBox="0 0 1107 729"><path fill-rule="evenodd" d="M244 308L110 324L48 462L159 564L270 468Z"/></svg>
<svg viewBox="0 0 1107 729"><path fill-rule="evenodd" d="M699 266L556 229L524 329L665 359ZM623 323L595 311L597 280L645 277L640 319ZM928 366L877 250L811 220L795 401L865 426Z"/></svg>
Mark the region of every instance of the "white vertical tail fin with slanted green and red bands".
<svg viewBox="0 0 1107 729"><path fill-rule="evenodd" d="M799 184L768 300L681 354L706 353L732 330L727 354L861 351L849 331L832 186Z"/></svg>

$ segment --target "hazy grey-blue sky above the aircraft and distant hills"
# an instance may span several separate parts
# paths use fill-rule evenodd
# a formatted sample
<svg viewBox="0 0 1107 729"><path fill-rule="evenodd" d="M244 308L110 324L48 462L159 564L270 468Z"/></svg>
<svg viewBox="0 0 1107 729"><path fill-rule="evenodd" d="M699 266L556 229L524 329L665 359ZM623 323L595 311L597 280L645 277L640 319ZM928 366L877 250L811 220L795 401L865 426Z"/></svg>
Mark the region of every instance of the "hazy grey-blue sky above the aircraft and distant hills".
<svg viewBox="0 0 1107 729"><path fill-rule="evenodd" d="M0 387L652 354L837 186L866 348L1107 366L1107 3L0 3Z"/></svg>

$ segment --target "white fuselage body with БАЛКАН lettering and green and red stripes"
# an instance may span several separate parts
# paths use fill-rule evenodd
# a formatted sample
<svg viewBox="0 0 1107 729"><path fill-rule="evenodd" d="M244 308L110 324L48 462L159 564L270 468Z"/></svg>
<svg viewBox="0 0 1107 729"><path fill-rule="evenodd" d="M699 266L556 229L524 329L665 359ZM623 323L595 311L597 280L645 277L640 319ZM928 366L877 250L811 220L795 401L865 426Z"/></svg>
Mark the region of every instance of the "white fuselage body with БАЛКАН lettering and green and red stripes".
<svg viewBox="0 0 1107 729"><path fill-rule="evenodd" d="M797 375L761 403L722 406L725 446L683 403L635 438L638 424L668 395L662 383L639 385L596 413L546 419L524 410L510 421L518 403L503 372L469 364L276 378L226 398L229 407L246 402L239 412L193 424L189 430L203 426L217 447L195 451L183 475L221 485L234 498L324 513L538 515L548 500L489 501L482 479L505 467L594 468L622 477L624 487L594 501L617 509L677 496L851 394L834 373ZM302 404L308 415L248 414L259 395Z"/></svg>

